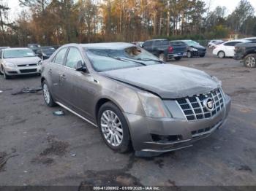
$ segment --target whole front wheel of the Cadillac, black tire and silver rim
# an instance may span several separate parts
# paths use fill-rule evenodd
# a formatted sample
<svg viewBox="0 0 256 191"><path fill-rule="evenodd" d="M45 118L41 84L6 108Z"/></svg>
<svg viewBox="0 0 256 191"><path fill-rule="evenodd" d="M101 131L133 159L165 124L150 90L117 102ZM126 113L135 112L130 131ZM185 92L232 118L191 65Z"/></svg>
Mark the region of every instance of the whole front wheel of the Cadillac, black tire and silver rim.
<svg viewBox="0 0 256 191"><path fill-rule="evenodd" d="M98 126L105 144L117 152L127 152L131 147L129 128L121 110L111 103L103 104L98 113Z"/></svg>

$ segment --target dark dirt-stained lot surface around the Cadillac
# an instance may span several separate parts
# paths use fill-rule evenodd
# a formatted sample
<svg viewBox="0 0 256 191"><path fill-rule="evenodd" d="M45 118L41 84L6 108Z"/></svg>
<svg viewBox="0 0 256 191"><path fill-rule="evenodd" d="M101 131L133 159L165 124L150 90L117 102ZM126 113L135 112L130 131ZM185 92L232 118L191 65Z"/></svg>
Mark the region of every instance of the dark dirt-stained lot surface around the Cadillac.
<svg viewBox="0 0 256 191"><path fill-rule="evenodd" d="M231 96L227 123L194 147L159 157L118 154L99 131L74 114L52 113L39 77L0 76L0 185L256 185L256 69L231 58L184 58L170 64L206 71Z"/></svg>

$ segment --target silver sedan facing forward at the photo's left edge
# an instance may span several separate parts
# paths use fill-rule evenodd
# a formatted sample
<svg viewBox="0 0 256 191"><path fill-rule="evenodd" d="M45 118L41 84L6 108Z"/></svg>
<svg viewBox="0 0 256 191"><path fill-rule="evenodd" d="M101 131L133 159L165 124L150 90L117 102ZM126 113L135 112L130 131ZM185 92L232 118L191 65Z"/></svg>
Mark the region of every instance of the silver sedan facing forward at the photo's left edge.
<svg viewBox="0 0 256 191"><path fill-rule="evenodd" d="M0 71L5 79L23 74L39 74L41 59L29 48L0 50Z"/></svg>

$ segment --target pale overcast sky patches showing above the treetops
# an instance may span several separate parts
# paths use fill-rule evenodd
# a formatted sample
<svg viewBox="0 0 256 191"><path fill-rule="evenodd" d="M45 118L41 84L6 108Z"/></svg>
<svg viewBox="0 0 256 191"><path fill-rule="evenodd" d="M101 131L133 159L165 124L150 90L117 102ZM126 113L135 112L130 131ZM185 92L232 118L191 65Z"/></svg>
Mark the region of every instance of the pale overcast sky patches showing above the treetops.
<svg viewBox="0 0 256 191"><path fill-rule="evenodd" d="M15 20L15 17L18 16L18 12L20 12L19 1L18 0L3 0L7 2L8 6L11 8L10 12L10 20ZM215 9L215 7L225 6L227 7L227 14L233 12L236 8L239 0L204 0L206 2L206 6L210 5L211 10ZM256 10L256 0L248 0Z"/></svg>

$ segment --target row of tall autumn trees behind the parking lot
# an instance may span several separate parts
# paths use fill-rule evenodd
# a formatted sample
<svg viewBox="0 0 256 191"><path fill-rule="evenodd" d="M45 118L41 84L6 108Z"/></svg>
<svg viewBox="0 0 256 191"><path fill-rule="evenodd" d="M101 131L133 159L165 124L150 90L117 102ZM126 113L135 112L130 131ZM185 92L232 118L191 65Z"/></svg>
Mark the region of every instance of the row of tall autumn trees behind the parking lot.
<svg viewBox="0 0 256 191"><path fill-rule="evenodd" d="M28 43L133 42L256 36L255 9L241 0L209 10L202 0L19 0L23 11L10 22L0 5L1 46Z"/></svg>

